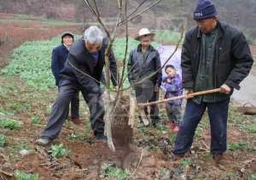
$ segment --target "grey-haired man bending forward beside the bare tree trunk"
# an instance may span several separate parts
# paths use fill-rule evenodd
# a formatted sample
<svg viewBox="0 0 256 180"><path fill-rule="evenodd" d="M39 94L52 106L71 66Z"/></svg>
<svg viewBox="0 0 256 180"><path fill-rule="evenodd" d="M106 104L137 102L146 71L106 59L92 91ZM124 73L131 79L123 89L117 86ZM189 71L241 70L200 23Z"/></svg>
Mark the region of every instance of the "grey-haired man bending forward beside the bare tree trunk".
<svg viewBox="0 0 256 180"><path fill-rule="evenodd" d="M49 121L41 138L40 145L46 145L61 132L68 104L77 91L81 91L90 109L90 125L96 139L107 140L104 136L104 107L100 80L104 66L104 54L108 39L103 38L102 31L96 26L90 26L84 31L84 39L73 43L67 62L61 70L60 92L49 115ZM117 77L116 62L113 52L109 56L113 86Z"/></svg>

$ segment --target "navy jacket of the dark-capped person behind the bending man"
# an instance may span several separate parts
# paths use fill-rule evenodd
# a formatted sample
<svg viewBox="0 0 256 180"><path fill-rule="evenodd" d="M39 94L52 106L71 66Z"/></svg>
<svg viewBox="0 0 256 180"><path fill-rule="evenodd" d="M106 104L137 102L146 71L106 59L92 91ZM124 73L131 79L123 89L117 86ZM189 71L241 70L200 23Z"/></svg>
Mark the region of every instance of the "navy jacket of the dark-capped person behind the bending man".
<svg viewBox="0 0 256 180"><path fill-rule="evenodd" d="M51 71L55 76L55 85L58 86L61 76L61 70L63 69L67 60L68 49L61 44L53 49L51 55Z"/></svg>

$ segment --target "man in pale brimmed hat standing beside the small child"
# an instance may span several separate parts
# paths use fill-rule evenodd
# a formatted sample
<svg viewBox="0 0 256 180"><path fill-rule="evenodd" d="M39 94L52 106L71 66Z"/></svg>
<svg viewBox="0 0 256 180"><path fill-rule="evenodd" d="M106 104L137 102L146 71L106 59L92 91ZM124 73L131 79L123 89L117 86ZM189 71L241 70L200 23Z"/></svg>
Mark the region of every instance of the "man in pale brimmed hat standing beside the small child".
<svg viewBox="0 0 256 180"><path fill-rule="evenodd" d="M137 103L148 103L158 100L159 87L161 84L161 64L160 54L150 43L154 33L143 28L136 37L140 44L131 51L128 60L128 79L131 86L135 89ZM157 70L159 70L157 72ZM157 72L157 73L155 73ZM154 74L154 76L151 76ZM147 78L149 76L149 78ZM150 117L153 126L160 120L159 110L156 104L150 105ZM140 118L143 123L148 125L148 107L140 110Z"/></svg>

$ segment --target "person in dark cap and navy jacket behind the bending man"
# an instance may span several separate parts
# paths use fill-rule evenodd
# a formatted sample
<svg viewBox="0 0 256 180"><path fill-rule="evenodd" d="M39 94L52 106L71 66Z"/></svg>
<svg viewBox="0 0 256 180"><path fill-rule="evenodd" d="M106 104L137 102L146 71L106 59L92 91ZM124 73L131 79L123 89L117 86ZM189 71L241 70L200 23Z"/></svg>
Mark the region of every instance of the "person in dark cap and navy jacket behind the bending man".
<svg viewBox="0 0 256 180"><path fill-rule="evenodd" d="M61 79L61 70L63 69L64 64L67 60L67 54L72 44L73 34L71 32L64 32L61 35L61 45L57 46L52 51L51 71L55 76L55 85L58 87L58 89ZM71 121L73 121L73 123L77 125L82 124L82 121L79 119L79 92L75 93L73 98L71 99Z"/></svg>

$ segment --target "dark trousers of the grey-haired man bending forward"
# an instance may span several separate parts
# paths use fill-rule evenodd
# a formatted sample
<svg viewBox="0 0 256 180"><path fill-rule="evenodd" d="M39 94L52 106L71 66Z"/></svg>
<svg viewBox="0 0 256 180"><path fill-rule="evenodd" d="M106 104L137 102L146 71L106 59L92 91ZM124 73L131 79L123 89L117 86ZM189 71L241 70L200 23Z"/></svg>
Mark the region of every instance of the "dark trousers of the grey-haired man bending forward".
<svg viewBox="0 0 256 180"><path fill-rule="evenodd" d="M81 91L86 104L90 109L90 126L95 135L104 133L104 106L101 93L90 93L82 89L77 83L65 82L60 86L58 98L52 106L48 124L42 132L41 137L50 139L57 138L61 127L66 120L68 107L74 94Z"/></svg>

